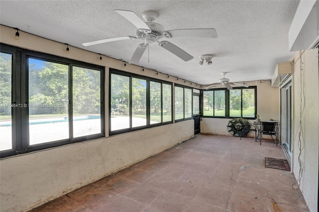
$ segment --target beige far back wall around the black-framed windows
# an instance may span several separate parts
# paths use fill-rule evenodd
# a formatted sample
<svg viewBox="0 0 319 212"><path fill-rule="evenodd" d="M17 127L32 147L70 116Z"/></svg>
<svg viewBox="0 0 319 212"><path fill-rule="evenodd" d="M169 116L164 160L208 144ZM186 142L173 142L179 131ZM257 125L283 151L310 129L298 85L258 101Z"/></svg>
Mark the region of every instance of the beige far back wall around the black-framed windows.
<svg viewBox="0 0 319 212"><path fill-rule="evenodd" d="M270 81L245 82L249 86L257 86L257 114L262 121L280 120L280 97L279 88L271 87ZM200 131L202 133L230 135L227 130L228 121L231 118L202 118L200 122ZM252 122L254 120L250 120ZM251 133L252 136L253 133ZM266 137L267 138L267 137Z"/></svg>

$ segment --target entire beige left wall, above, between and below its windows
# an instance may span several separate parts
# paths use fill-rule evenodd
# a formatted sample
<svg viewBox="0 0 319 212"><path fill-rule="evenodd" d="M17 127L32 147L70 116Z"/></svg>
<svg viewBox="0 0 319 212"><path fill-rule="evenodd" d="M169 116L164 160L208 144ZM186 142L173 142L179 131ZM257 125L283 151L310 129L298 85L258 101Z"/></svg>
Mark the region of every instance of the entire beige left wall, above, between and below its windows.
<svg viewBox="0 0 319 212"><path fill-rule="evenodd" d="M0 26L0 42L34 51L105 66L106 137L16 155L0 160L1 212L28 211L79 187L160 153L194 136L194 121L186 120L148 129L108 135L109 68L172 82L167 75L142 71L141 67L87 52L20 31ZM194 87L190 82L178 82Z"/></svg>

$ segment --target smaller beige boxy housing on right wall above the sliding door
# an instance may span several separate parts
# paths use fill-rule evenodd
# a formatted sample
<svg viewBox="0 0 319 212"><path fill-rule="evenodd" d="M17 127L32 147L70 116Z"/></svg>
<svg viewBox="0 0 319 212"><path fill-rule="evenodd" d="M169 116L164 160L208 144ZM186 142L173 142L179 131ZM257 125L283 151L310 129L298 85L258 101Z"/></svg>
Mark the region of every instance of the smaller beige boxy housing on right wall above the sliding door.
<svg viewBox="0 0 319 212"><path fill-rule="evenodd" d="M271 86L278 87L286 81L286 79L293 73L294 65L292 62L278 63L271 79Z"/></svg>

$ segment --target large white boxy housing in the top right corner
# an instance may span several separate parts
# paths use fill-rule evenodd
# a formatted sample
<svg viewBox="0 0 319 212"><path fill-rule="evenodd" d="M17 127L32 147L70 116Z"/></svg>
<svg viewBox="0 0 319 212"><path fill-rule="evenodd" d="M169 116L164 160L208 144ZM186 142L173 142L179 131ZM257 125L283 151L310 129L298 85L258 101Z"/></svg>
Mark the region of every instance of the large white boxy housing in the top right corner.
<svg viewBox="0 0 319 212"><path fill-rule="evenodd" d="M310 50L319 45L319 0L301 0L289 30L289 51Z"/></svg>

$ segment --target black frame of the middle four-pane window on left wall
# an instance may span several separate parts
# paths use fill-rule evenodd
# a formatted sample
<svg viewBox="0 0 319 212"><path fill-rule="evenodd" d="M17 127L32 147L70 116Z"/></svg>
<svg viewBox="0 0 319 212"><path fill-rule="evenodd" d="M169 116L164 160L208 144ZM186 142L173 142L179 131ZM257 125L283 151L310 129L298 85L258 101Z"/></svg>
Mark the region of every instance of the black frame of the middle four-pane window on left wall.
<svg viewBox="0 0 319 212"><path fill-rule="evenodd" d="M126 76L129 77L130 79L130 127L129 128L125 128L125 129L118 129L118 130L111 130L112 127L112 123L111 123L111 115L112 115L112 111L111 111L111 86L112 86L112 82L111 82L111 75L112 74L116 74L116 75L121 75L121 76ZM147 100L147 124L143 125L143 126L137 126L137 127L133 127L132 126L132 78L139 78L142 80L146 80L146 100ZM150 82L157 82L157 83L161 83L161 122L159 123L154 123L151 124L151 112L150 112ZM117 70L117 69L112 69L110 68L109 71L109 135L116 135L116 134L120 134L120 133L125 133L125 132L131 132L131 131L135 131L135 130L140 130L140 129L145 129L145 128L150 128L150 127L155 127L155 126L160 126L160 125L164 125L164 124L169 124L173 122L173 112L171 112L171 120L170 121L165 121L163 122L163 109L162 109L162 96L163 96L163 90L162 90L162 85L166 84L166 85L170 85L171 86L171 109L173 109L173 83L171 82L167 82L167 81L163 81L163 80L159 80L156 78L151 78L151 77L147 77L147 76L143 76L143 75L138 75L138 74L134 74L134 73L130 73L130 72L125 72L125 71L121 71L121 70Z"/></svg>

